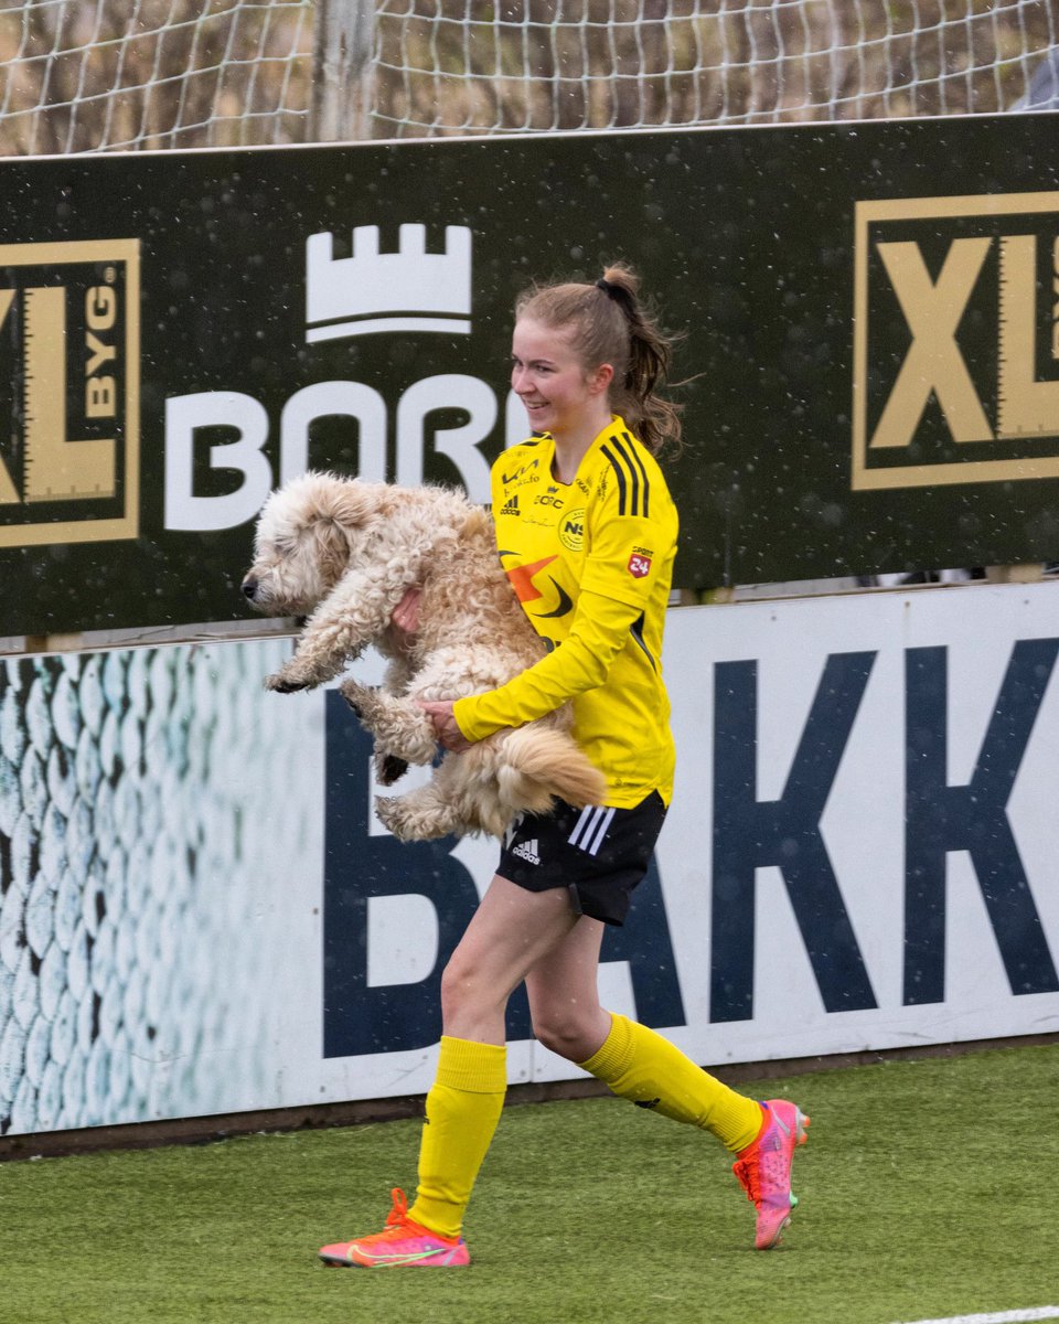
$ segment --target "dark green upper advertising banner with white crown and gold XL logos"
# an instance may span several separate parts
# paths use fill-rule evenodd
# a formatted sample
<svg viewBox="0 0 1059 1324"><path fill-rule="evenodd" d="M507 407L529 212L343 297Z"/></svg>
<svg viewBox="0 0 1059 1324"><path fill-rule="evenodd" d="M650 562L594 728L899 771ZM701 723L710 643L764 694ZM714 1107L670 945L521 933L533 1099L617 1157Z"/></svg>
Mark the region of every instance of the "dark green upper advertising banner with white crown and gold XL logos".
<svg viewBox="0 0 1059 1324"><path fill-rule="evenodd" d="M676 584L1059 557L1048 114L0 162L0 636L245 618L306 467L487 498L511 307L682 339Z"/></svg>

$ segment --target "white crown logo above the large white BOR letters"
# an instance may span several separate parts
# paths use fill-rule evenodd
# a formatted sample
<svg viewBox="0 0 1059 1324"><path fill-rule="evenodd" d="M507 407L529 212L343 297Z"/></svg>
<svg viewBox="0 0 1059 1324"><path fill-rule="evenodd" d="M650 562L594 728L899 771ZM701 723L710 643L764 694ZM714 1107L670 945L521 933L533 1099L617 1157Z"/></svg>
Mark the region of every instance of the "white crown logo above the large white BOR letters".
<svg viewBox="0 0 1059 1324"><path fill-rule="evenodd" d="M426 252L426 226L402 225L396 253L379 226L357 225L352 257L334 256L331 230L306 240L306 342L380 331L470 335L471 232L446 225L445 252Z"/></svg>

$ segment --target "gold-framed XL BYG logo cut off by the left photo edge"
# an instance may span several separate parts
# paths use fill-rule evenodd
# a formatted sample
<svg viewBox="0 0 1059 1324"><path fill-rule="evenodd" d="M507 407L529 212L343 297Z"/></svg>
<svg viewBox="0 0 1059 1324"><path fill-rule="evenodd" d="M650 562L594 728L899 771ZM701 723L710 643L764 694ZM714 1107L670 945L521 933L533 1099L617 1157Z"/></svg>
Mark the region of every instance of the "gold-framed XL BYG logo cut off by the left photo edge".
<svg viewBox="0 0 1059 1324"><path fill-rule="evenodd" d="M0 245L0 547L135 538L139 242Z"/></svg>

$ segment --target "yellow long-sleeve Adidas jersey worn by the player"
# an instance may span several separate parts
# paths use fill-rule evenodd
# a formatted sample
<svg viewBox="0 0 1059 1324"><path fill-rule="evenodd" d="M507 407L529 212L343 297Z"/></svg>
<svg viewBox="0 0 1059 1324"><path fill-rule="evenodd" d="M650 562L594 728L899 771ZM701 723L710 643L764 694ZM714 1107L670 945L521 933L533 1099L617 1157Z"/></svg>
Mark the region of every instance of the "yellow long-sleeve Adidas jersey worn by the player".
<svg viewBox="0 0 1059 1324"><path fill-rule="evenodd" d="M500 560L547 657L455 704L470 740L573 700L575 736L606 776L608 805L672 794L674 745L662 681L678 518L651 453L614 417L569 485L555 442L531 438L492 466Z"/></svg>

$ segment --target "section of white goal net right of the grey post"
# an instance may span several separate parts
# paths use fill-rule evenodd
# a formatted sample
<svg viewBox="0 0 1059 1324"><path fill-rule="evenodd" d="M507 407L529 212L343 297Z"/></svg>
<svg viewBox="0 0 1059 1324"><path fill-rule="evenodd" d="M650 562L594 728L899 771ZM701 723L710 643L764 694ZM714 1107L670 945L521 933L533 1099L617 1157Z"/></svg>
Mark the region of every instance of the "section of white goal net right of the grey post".
<svg viewBox="0 0 1059 1324"><path fill-rule="evenodd" d="M1005 110L1056 40L1040 0L508 0L379 5L387 135Z"/></svg>

